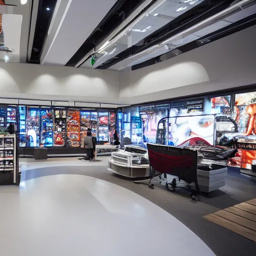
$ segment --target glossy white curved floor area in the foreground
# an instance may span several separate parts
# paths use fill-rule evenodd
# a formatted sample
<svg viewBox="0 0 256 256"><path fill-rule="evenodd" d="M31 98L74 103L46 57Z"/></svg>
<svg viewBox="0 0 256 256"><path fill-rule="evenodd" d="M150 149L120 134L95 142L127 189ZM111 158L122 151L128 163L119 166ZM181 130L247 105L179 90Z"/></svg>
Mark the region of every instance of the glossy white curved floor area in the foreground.
<svg viewBox="0 0 256 256"><path fill-rule="evenodd" d="M83 175L0 187L0 254L214 255L192 231L145 198Z"/></svg>

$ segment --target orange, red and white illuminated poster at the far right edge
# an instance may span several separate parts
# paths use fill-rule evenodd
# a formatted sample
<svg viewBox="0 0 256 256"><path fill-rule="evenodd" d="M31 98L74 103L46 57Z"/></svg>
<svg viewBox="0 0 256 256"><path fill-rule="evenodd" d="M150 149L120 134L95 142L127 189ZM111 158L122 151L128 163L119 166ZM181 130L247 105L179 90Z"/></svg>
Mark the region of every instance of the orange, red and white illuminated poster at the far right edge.
<svg viewBox="0 0 256 256"><path fill-rule="evenodd" d="M256 92L235 95L231 119L237 128L235 132L224 132L219 144L238 148L229 165L251 170L256 159Z"/></svg>

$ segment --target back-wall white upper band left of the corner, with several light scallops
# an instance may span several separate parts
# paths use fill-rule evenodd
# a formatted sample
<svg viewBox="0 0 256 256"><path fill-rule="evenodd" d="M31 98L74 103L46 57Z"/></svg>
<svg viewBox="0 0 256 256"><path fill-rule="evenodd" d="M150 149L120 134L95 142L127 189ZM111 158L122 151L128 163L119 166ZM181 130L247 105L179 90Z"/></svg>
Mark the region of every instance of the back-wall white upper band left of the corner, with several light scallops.
<svg viewBox="0 0 256 256"><path fill-rule="evenodd" d="M119 103L114 71L0 62L0 96Z"/></svg>

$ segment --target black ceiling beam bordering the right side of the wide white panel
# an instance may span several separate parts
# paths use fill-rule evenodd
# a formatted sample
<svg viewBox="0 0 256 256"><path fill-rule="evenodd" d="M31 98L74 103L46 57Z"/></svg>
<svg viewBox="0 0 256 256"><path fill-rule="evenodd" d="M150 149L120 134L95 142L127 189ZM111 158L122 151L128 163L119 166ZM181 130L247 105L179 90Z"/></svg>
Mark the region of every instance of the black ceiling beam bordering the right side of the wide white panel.
<svg viewBox="0 0 256 256"><path fill-rule="evenodd" d="M143 1L144 0L117 0L114 6L108 11L106 16L100 21L97 27L65 65L75 66L75 64L78 63L91 49L103 41L115 28L117 28L118 25L120 25ZM156 0L152 0L147 8L155 1ZM143 11L144 10L141 12ZM138 15L140 14L141 13ZM130 22L132 22L132 20ZM81 65L85 61L86 60L84 60Z"/></svg>

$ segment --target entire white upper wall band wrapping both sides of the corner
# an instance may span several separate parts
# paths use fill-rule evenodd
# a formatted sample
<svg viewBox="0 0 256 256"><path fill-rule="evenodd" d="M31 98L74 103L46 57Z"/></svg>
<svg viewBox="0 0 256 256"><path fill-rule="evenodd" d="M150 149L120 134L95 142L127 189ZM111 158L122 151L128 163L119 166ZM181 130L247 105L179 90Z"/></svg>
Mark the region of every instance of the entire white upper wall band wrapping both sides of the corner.
<svg viewBox="0 0 256 256"><path fill-rule="evenodd" d="M0 62L0 97L136 104L256 83L256 25L130 72Z"/></svg>

